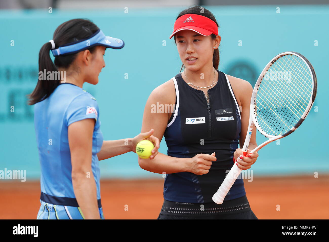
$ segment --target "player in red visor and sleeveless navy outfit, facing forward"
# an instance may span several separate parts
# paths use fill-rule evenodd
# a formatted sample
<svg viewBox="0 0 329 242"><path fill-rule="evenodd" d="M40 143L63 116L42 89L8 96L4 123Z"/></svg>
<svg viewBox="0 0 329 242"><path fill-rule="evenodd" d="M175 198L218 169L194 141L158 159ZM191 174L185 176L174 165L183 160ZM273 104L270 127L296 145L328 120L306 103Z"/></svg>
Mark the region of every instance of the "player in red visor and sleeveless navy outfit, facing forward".
<svg viewBox="0 0 329 242"><path fill-rule="evenodd" d="M165 174L158 219L257 219L242 179L236 180L222 204L212 200L238 156L243 170L258 157L243 157L238 148L246 137L253 88L218 70L221 37L207 9L195 6L179 13L172 37L184 71L150 94L141 129L156 127L154 135L164 137L168 147L167 154L159 153L152 162L139 159L141 168ZM153 103L175 108L154 113ZM254 131L249 148L256 146Z"/></svg>

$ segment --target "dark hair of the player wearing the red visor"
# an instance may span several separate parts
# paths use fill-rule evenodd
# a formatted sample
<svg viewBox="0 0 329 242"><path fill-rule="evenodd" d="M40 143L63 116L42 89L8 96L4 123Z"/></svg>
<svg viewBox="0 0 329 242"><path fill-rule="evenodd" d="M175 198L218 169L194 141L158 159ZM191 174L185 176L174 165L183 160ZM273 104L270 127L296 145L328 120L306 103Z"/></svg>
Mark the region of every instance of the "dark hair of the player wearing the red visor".
<svg viewBox="0 0 329 242"><path fill-rule="evenodd" d="M203 13L201 13L201 9L203 10ZM216 18L214 16L214 14L211 13L209 10L205 9L202 6L193 6L193 7L190 7L188 9L183 10L182 12L180 12L178 14L176 20L179 17L181 17L181 16L183 16L185 14L189 14L189 13L191 13L191 14L199 14L199 15L205 16L207 18L210 18L211 20L213 20L216 23L217 27L219 28L218 23L216 21ZM211 36L211 38L213 40L216 38L216 35L215 34L211 34L210 36ZM174 38L175 38L175 43L176 43L176 37L174 36ZM215 67L216 70L218 69L218 65L219 65L219 50L217 48L217 49L214 50L214 54L213 54L213 66ZM181 67L180 72L182 72L183 67L184 67L184 64L182 64L182 67Z"/></svg>

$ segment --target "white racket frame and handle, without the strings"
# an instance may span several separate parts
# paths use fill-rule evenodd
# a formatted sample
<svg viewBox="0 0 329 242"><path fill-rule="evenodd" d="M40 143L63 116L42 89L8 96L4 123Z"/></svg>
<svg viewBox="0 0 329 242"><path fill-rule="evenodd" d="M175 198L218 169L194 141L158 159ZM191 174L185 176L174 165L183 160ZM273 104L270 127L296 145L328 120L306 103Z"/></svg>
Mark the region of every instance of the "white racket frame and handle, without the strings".
<svg viewBox="0 0 329 242"><path fill-rule="evenodd" d="M312 87L312 98L310 98L310 101L308 103L308 106L305 110L305 112L303 113L303 115L301 116L300 120L294 125L294 127L292 127L289 131L287 131L286 133L282 134L282 135L270 135L267 134L259 125L258 121L257 121L257 117L256 117L256 97L257 97L257 91L258 91L258 87L260 86L261 82L263 81L263 78L265 76L266 71L272 66L272 64L278 60L279 58L281 58L282 56L285 55L295 55L298 56L299 58L301 58L305 64L307 65L307 67L309 68L310 73L312 74L312 82L313 82L313 87ZM299 127L299 125L305 120L305 118L307 117L307 115L309 114L312 105L314 103L314 99L316 96L316 89L317 89L317 83L316 83L316 75L315 75L315 71L311 65L311 63L301 54L297 53L297 52L293 52L293 51L289 51L289 52L283 52L278 54L277 56L275 56L267 65L266 67L263 69L263 71L261 72L260 76L258 77L258 80L255 84L252 96L251 96L251 100L250 100L250 113L249 113L249 128L247 130L247 134L246 134L246 138L243 144L243 155L247 155L247 150L248 150L248 146L249 146L249 142L250 142L250 138L251 138L251 133L253 130L253 125L255 125L255 127L258 129L259 132L261 132L262 135L264 135L265 137L268 138L267 141L265 141L264 143L262 143L261 145L257 146L256 148L254 148L253 150L251 150L251 154L258 152L258 150L260 150L261 148L263 148L264 146L266 146L267 144L281 139L289 134L291 134L294 130L296 130L296 128ZM242 161L240 159L240 157L238 158L238 160ZM232 185L234 184L235 180L238 178L238 176L241 173L241 169L238 167L238 163L237 161L235 161L233 167L231 168L230 172L226 175L223 183L220 185L220 187L218 188L218 191L214 194L213 196L213 201L217 204L222 204L224 201L224 198L226 197L227 193L229 192L229 190L231 189Z"/></svg>

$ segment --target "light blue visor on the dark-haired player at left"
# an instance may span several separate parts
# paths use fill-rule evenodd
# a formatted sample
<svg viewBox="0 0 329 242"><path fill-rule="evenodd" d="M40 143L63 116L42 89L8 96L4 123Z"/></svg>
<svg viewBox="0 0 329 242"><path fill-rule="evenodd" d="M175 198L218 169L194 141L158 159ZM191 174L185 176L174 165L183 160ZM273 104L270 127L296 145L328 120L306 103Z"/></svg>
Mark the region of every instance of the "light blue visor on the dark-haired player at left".
<svg viewBox="0 0 329 242"><path fill-rule="evenodd" d="M57 49L51 50L54 56L68 55L77 53L79 51L88 49L90 47L102 45L106 48L121 49L124 46L123 40L105 36L104 33L99 29L93 35L87 39L78 40L72 43L63 44Z"/></svg>

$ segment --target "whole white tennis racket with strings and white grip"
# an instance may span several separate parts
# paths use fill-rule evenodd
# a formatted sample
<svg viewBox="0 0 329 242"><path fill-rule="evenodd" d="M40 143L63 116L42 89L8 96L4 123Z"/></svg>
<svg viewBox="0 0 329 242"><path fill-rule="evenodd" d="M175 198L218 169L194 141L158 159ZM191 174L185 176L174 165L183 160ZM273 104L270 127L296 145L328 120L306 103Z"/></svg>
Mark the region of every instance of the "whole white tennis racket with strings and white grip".
<svg viewBox="0 0 329 242"><path fill-rule="evenodd" d="M316 96L316 75L311 63L297 52L275 56L258 77L250 101L247 135L243 144L246 156L253 125L268 138L250 153L291 134L309 114ZM238 158L238 160L241 160ZM226 194L241 173L235 162L213 196L222 204Z"/></svg>

